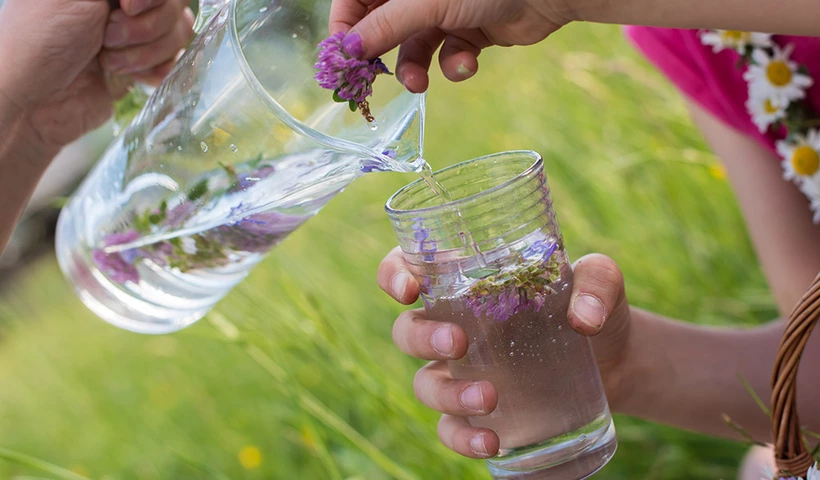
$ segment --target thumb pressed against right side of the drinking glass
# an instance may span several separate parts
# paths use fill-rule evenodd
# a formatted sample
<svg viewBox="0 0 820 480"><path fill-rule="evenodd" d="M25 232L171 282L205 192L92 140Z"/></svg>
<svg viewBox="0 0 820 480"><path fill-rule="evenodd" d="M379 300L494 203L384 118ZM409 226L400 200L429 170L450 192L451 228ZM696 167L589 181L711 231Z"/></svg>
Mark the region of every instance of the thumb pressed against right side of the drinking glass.
<svg viewBox="0 0 820 480"><path fill-rule="evenodd" d="M573 266L573 289L567 318L578 333L597 335L618 328L628 318L628 303L621 269L611 258L592 254L578 259Z"/></svg>

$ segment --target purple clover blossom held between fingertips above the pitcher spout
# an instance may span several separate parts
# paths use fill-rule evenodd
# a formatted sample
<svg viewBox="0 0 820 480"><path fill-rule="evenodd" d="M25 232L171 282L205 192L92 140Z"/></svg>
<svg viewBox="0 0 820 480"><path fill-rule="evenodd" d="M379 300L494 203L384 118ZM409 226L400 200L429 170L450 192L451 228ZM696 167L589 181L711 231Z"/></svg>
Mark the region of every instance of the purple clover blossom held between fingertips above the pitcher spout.
<svg viewBox="0 0 820 480"><path fill-rule="evenodd" d="M367 121L372 122L367 97L373 94L373 82L382 73L390 74L380 59L361 60L364 54L361 37L342 32L319 43L315 79L322 88L333 90L337 101L347 101L358 107Z"/></svg>

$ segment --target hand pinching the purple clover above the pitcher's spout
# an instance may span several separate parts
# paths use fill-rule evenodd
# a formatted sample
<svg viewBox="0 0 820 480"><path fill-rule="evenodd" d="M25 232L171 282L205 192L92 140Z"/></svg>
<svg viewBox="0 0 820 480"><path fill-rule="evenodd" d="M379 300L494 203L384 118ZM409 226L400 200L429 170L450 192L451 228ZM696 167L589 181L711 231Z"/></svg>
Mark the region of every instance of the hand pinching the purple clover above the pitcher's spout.
<svg viewBox="0 0 820 480"><path fill-rule="evenodd" d="M568 0L333 0L330 33L361 36L364 58L399 45L396 75L412 92L427 90L427 70L442 42L439 63L452 81L478 70L491 45L537 43L573 18Z"/></svg>

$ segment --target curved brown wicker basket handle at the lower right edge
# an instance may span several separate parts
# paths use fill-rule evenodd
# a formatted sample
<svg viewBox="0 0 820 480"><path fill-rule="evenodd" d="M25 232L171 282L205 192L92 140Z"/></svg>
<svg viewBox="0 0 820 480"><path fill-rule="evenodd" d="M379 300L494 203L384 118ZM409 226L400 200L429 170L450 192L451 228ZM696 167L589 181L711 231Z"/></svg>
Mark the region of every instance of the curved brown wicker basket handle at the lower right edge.
<svg viewBox="0 0 820 480"><path fill-rule="evenodd" d="M789 316L772 375L772 439L777 467L805 478L814 464L797 417L797 367L814 324L820 319L820 275Z"/></svg>

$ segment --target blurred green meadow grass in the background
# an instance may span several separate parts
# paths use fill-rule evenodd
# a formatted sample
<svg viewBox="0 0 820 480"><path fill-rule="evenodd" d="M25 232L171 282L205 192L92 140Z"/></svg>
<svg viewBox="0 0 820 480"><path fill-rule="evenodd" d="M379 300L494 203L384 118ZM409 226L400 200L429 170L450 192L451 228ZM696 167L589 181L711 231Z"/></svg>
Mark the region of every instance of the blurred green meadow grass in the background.
<svg viewBox="0 0 820 480"><path fill-rule="evenodd" d="M462 85L432 81L434 168L539 151L570 254L615 258L633 304L697 323L774 317L714 158L617 28L574 25L481 61ZM439 445L437 415L412 392L421 362L391 342L401 307L375 284L395 243L383 203L412 179L358 180L213 315L170 336L109 326L52 258L32 266L0 300L0 447L94 479L489 478ZM744 452L616 426L618 453L598 478L729 479ZM258 468L239 461L248 446ZM60 478L3 452L0 478Z"/></svg>

